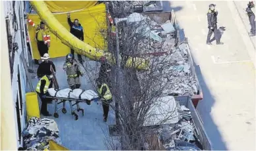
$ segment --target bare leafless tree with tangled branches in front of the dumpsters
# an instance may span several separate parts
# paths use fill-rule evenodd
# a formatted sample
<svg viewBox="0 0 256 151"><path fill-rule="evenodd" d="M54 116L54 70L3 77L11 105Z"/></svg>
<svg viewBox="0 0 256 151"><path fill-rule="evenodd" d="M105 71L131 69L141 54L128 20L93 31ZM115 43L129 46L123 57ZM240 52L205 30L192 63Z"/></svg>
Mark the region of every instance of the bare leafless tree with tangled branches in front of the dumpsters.
<svg viewBox="0 0 256 151"><path fill-rule="evenodd" d="M131 11L131 2L116 1L112 2L112 14L115 17L127 17ZM122 12L122 11L123 12ZM118 108L110 104L113 110L118 111L116 116L119 117L119 125L117 133L121 137L119 140L123 150L141 150L145 142L145 138L152 133L154 127L147 125L160 125L177 118L176 106L169 106L168 110L164 111L162 103L166 103L162 91L168 86L163 83L162 77L167 76L164 72L170 66L168 54L165 56L154 56L152 54L164 51L163 42L158 42L149 38L152 21L148 18L138 22L121 22L118 24L119 30L119 50L121 56L121 71L116 72L116 64L112 64L112 73L110 78L110 87L114 101L119 103ZM103 34L108 40L108 51L114 53L116 48L115 37L110 34L110 31ZM146 55L150 53L149 55ZM172 53L172 51L170 51ZM169 54L170 54L169 53ZM150 66L146 71L136 70L136 58L132 60L130 68L125 68L128 56L140 56L149 60ZM118 57L118 54L113 55ZM113 59L115 59L113 58ZM92 67L89 64L84 64L86 73L90 81L94 82L94 78L98 74L100 64ZM117 75L117 73L120 73ZM115 80L119 76L121 80ZM96 89L96 87L95 87ZM169 100L167 100L168 102ZM158 108L158 112L156 112ZM162 109L159 109L162 108ZM154 118L152 118L154 117ZM158 117L162 117L157 119ZM115 144L108 143L110 149L116 149Z"/></svg>

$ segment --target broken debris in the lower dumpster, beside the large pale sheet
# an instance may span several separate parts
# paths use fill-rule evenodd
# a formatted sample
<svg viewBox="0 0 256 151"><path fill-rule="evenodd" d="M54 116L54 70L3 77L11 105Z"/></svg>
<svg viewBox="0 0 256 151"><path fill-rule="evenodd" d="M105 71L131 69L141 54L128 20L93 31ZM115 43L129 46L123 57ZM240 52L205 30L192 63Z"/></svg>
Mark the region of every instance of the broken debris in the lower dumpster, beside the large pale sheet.
<svg viewBox="0 0 256 151"><path fill-rule="evenodd" d="M193 123L191 111L177 104L179 120L176 123L163 124L155 129L158 140L166 150L202 150L197 127Z"/></svg>

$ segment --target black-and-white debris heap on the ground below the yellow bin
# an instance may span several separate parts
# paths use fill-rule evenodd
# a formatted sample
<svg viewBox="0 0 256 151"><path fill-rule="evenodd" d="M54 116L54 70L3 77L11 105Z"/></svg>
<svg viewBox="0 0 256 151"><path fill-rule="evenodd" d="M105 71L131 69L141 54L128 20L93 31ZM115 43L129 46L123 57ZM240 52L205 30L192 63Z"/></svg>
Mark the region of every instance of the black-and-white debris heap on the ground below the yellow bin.
<svg viewBox="0 0 256 151"><path fill-rule="evenodd" d="M59 129L53 119L30 118L28 125L22 131L25 150L44 150L49 149L49 140L61 144Z"/></svg>

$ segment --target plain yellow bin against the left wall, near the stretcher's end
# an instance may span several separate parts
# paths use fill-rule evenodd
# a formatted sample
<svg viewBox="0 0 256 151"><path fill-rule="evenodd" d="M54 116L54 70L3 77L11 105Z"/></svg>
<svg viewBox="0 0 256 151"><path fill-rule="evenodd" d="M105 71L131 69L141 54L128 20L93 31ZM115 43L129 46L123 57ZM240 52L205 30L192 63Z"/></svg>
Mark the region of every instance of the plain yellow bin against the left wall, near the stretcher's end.
<svg viewBox="0 0 256 151"><path fill-rule="evenodd" d="M40 118L38 95L35 92L26 93L26 115L28 120L33 116Z"/></svg>

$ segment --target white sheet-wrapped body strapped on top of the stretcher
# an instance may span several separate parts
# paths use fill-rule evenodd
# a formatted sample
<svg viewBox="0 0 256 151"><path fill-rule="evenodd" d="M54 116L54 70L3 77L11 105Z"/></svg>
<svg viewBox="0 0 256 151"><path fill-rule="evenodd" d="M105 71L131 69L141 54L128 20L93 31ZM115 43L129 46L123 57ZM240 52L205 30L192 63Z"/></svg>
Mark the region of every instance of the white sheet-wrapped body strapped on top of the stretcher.
<svg viewBox="0 0 256 151"><path fill-rule="evenodd" d="M74 89L72 91L71 89L67 88L67 89L61 89L59 91L55 91L54 88L50 88L48 89L48 93L49 95L51 95L51 97L76 98L76 99L82 99L82 100L92 100L93 98L98 98L98 94L92 90L86 90L82 92L82 89ZM79 96L81 98L79 98Z"/></svg>

